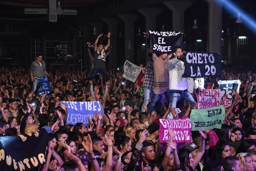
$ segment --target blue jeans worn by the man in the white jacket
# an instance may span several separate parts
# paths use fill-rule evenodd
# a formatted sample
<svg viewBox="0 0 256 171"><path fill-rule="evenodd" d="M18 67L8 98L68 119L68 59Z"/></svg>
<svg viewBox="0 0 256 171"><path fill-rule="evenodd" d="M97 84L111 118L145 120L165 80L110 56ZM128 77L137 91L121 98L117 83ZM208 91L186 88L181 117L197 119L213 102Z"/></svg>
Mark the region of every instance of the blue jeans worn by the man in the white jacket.
<svg viewBox="0 0 256 171"><path fill-rule="evenodd" d="M180 98L183 98L187 102L190 102L191 106L195 105L195 100L188 91L186 91L184 93L172 93L172 92L170 92L170 103L171 103L172 108L176 108L176 104L177 104L177 102Z"/></svg>

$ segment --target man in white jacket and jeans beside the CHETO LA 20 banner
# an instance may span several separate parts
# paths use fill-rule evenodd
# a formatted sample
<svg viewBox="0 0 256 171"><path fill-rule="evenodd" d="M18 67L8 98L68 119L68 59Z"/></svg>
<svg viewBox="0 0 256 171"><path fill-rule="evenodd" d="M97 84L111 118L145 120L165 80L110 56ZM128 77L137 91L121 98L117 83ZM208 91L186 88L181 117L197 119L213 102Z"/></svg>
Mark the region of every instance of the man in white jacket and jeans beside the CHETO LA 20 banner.
<svg viewBox="0 0 256 171"><path fill-rule="evenodd" d="M190 102L191 106L194 106L196 103L187 91L187 78L182 78L185 71L184 62L180 61L184 58L183 53L181 47L173 47L172 58L168 61L170 103L172 108L176 108L176 104L180 98ZM167 118L169 118L169 115Z"/></svg>

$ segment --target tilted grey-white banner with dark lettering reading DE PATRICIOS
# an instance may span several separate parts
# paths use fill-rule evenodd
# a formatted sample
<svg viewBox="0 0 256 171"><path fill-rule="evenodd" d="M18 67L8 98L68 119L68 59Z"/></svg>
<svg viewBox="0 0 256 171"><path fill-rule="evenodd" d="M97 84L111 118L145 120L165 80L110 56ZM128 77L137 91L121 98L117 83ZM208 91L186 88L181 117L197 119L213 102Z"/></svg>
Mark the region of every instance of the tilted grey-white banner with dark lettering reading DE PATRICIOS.
<svg viewBox="0 0 256 171"><path fill-rule="evenodd" d="M130 80L132 82L135 82L138 75L141 72L140 67L138 67L137 65L134 65L133 63L129 62L129 61L125 61L124 62L124 72L123 72L123 77L126 78L127 80Z"/></svg>

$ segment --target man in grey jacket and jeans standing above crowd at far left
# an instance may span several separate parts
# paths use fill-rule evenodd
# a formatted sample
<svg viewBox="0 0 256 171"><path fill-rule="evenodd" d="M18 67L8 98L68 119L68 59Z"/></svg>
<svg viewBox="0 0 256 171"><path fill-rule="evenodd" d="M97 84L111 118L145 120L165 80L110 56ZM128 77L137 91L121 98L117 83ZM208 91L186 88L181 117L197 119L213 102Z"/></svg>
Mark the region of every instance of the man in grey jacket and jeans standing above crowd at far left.
<svg viewBox="0 0 256 171"><path fill-rule="evenodd" d="M31 63L29 72L31 80L33 81L32 92L35 92L38 83L41 82L43 77L48 75L46 72L45 62L42 60L42 58L43 57L41 54L37 54L36 60Z"/></svg>

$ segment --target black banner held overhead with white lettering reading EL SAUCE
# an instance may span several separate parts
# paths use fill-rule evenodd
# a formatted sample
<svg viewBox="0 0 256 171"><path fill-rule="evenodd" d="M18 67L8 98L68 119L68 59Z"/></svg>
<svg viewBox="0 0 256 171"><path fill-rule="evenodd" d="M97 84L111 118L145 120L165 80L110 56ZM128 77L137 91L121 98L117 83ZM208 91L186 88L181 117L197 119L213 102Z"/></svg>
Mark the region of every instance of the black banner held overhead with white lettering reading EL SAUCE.
<svg viewBox="0 0 256 171"><path fill-rule="evenodd" d="M146 31L146 38L150 52L154 53L168 53L174 46L183 46L182 32Z"/></svg>

